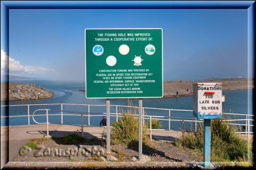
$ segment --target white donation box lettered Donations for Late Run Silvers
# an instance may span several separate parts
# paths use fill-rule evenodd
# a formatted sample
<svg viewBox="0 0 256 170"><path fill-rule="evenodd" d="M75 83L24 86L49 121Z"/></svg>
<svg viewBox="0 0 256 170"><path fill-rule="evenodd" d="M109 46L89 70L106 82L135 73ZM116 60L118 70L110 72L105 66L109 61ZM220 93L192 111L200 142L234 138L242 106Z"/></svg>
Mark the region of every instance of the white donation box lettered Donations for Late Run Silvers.
<svg viewBox="0 0 256 170"><path fill-rule="evenodd" d="M193 110L196 118L222 118L222 83L193 83Z"/></svg>

